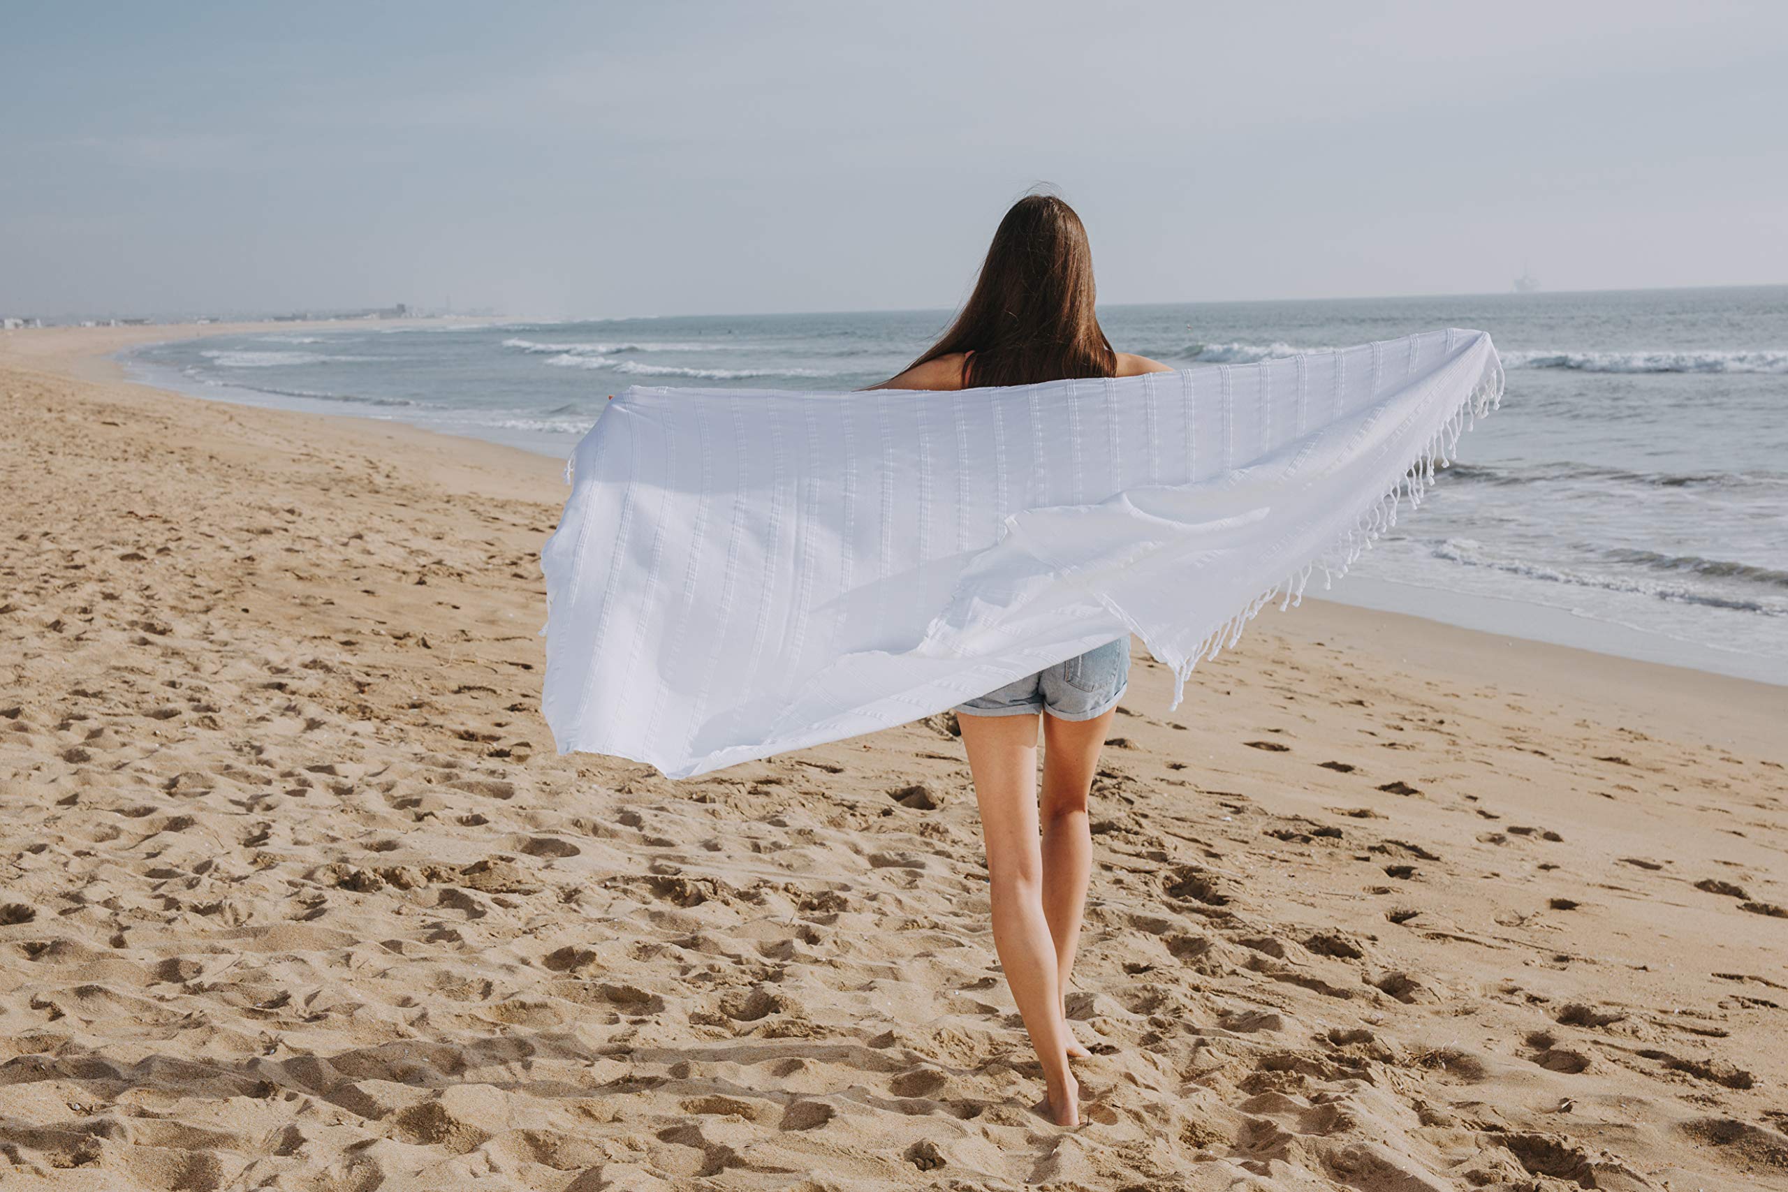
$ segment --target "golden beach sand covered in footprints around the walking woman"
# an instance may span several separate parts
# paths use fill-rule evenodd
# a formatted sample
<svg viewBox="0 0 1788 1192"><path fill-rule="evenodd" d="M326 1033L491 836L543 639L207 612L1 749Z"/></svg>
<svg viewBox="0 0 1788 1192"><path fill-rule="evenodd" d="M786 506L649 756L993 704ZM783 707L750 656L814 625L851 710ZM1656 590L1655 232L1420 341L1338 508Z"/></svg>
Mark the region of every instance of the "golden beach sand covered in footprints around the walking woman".
<svg viewBox="0 0 1788 1192"><path fill-rule="evenodd" d="M1788 1188L1788 688L1139 659L1060 1131L942 718L558 758L558 465L100 359L170 334L0 336L0 1187Z"/></svg>

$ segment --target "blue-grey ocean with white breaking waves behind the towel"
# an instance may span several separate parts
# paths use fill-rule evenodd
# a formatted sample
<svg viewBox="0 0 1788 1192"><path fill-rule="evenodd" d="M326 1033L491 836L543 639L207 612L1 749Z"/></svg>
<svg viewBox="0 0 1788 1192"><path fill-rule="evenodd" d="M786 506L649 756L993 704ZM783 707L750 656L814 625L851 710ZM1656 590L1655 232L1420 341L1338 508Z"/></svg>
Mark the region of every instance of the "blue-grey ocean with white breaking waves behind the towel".
<svg viewBox="0 0 1788 1192"><path fill-rule="evenodd" d="M256 406L395 418L563 457L629 384L853 390L948 311L316 329L132 350ZM1332 592L1491 633L1788 683L1788 286L1114 306L1173 366L1488 331L1502 409Z"/></svg>

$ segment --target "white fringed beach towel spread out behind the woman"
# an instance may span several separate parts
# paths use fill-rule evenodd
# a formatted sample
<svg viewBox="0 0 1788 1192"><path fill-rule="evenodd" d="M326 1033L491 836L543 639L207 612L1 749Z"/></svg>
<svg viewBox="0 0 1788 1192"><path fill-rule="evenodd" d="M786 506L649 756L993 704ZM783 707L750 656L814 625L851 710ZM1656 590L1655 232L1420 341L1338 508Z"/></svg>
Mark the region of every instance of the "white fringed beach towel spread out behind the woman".
<svg viewBox="0 0 1788 1192"><path fill-rule="evenodd" d="M1500 395L1457 329L955 393L631 388L542 554L547 724L688 777L1126 633L1184 686L1420 504Z"/></svg>

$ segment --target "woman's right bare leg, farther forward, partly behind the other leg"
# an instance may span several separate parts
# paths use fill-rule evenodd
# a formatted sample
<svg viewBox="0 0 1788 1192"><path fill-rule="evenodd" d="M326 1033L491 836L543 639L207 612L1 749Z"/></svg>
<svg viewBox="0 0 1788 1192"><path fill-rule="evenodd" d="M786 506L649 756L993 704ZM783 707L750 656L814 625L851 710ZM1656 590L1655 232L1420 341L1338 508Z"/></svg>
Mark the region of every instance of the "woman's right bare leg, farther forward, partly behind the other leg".
<svg viewBox="0 0 1788 1192"><path fill-rule="evenodd" d="M1087 793L1098 772L1100 751L1118 709L1092 720L1042 717L1042 913L1055 940L1057 986L1067 997L1080 945L1080 920L1087 910L1087 881L1092 876L1092 831L1087 822ZM1067 1054L1089 1053L1067 1028Z"/></svg>

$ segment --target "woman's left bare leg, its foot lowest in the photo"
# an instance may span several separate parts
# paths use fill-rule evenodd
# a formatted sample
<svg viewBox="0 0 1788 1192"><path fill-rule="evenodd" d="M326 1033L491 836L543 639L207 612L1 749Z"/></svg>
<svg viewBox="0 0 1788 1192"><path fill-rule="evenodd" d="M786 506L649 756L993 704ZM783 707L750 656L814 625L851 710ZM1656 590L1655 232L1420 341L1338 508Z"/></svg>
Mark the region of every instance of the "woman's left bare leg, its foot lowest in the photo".
<svg viewBox="0 0 1788 1192"><path fill-rule="evenodd" d="M987 838L994 951L1030 1031L1050 1090L1050 1119L1080 1124L1080 1087L1067 1070L1067 1031L1055 940L1042 913L1037 836L1037 717L958 717Z"/></svg>

